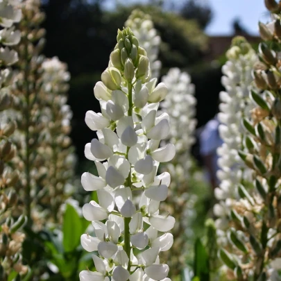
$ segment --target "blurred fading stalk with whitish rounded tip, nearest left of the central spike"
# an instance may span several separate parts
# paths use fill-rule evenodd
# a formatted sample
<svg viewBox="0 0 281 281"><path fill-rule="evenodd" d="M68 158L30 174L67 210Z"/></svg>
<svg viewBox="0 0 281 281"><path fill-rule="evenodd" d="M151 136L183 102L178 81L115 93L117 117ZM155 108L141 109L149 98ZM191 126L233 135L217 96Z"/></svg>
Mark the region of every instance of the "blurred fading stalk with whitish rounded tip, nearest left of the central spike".
<svg viewBox="0 0 281 281"><path fill-rule="evenodd" d="M56 57L45 59L42 71L42 98L46 101L42 121L47 123L44 154L48 176L45 189L49 190L44 201L49 201L51 221L58 223L60 207L73 191L76 162L69 137L72 112L66 95L70 74L67 65Z"/></svg>

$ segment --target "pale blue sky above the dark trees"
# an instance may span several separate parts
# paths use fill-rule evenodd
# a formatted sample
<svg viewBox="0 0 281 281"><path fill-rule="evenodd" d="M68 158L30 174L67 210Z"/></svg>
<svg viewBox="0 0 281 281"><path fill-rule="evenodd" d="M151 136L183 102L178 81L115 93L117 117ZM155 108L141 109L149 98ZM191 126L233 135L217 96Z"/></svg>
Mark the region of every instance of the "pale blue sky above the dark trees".
<svg viewBox="0 0 281 281"><path fill-rule="evenodd" d="M145 3L147 0L117 0L120 3ZM180 2L182 0L176 0ZM232 33L232 22L239 18L241 24L251 34L257 34L257 22L266 22L264 0L205 0L214 11L214 18L207 27L209 35L228 35ZM106 0L106 6L112 7L114 0Z"/></svg>

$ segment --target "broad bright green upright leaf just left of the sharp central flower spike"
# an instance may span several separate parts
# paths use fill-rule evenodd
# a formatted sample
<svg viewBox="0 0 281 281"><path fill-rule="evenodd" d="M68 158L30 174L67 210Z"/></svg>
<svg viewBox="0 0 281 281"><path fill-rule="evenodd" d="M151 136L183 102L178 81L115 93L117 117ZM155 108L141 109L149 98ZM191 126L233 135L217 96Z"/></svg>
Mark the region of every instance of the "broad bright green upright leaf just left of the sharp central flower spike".
<svg viewBox="0 0 281 281"><path fill-rule="evenodd" d="M65 213L63 214L63 240L62 244L65 252L71 252L80 244L80 236L83 232L83 225L80 216L75 208L67 204Z"/></svg>

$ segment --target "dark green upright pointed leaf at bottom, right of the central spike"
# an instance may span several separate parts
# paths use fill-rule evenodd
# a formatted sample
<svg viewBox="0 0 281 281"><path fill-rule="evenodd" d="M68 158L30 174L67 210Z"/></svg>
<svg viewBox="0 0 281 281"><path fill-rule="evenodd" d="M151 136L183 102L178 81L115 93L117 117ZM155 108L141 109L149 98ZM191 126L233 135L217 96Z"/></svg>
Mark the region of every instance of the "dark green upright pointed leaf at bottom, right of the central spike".
<svg viewBox="0 0 281 281"><path fill-rule="evenodd" d="M209 257L199 238L195 241L194 252L194 276L198 277L198 280L209 281Z"/></svg>

